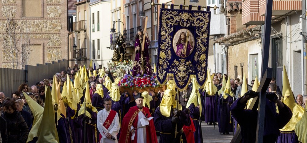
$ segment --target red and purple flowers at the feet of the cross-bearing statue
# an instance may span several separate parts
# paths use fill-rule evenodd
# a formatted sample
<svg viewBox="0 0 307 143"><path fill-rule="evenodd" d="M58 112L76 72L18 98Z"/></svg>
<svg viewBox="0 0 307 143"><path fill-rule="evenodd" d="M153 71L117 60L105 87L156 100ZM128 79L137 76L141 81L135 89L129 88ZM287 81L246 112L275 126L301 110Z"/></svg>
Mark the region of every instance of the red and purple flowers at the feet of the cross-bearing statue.
<svg viewBox="0 0 307 143"><path fill-rule="evenodd" d="M156 74L153 73L152 76L146 74L143 77L132 77L131 75L125 74L122 78L120 85L127 88L146 88L146 87L158 87L156 80Z"/></svg>

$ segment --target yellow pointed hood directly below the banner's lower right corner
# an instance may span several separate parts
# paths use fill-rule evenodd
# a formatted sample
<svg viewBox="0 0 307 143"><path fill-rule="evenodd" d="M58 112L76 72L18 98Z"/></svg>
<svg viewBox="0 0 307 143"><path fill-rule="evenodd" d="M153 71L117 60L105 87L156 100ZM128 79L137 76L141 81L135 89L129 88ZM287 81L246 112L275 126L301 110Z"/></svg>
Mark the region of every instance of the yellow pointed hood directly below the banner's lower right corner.
<svg viewBox="0 0 307 143"><path fill-rule="evenodd" d="M186 104L186 107L189 108L189 106L193 103L195 105L195 107L197 106L197 103L198 103L198 106L200 107L199 109L199 113L200 113L200 116L201 116L201 110L202 110L202 107L201 107L201 99L200 99L200 93L198 92L198 85L196 83L196 78L195 77L192 77L192 92L191 92L191 95L189 97L189 100Z"/></svg>

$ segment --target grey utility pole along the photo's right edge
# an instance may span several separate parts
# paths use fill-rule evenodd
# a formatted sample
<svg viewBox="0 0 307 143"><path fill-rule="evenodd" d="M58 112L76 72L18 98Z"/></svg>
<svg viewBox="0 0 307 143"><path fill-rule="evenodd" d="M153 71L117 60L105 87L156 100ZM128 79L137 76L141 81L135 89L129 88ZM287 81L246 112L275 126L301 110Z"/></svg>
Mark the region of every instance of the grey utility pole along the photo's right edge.
<svg viewBox="0 0 307 143"><path fill-rule="evenodd" d="M302 41L303 41L303 75L304 75L304 95L307 94L307 40L306 40L306 0L302 0Z"/></svg>

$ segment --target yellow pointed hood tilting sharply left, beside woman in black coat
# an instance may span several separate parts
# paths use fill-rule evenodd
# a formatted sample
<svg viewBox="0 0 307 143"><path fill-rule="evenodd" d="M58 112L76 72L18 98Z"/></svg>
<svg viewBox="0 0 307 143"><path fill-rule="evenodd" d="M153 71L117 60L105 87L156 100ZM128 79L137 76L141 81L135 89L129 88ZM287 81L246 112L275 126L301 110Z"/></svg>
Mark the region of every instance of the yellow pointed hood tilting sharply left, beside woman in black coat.
<svg viewBox="0 0 307 143"><path fill-rule="evenodd" d="M29 132L28 139L26 141L29 142L32 141L34 137L37 137L38 126L41 124L44 108L41 105L39 105L36 101L34 101L30 96L28 96L28 94L26 94L23 91L22 93L25 96L34 117L32 128Z"/></svg>

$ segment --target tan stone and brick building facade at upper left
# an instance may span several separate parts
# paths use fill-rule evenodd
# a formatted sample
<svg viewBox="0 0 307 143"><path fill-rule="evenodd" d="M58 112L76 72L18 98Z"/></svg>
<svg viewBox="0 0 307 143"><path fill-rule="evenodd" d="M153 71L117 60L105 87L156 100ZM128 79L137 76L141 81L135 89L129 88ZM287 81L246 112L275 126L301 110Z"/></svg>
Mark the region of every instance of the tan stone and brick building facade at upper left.
<svg viewBox="0 0 307 143"><path fill-rule="evenodd" d="M0 7L0 67L12 67L2 45L7 18L16 21L17 38L25 33L30 37L29 65L67 59L66 0L2 0Z"/></svg>

